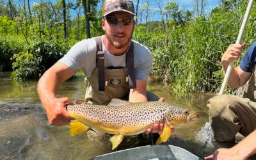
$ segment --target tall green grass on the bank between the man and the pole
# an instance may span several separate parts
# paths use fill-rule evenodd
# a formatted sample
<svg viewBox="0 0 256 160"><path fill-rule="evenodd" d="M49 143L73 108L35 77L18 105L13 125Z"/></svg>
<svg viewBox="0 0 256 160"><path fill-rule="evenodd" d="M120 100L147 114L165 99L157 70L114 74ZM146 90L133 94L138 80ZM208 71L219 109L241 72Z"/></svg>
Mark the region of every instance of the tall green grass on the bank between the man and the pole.
<svg viewBox="0 0 256 160"><path fill-rule="evenodd" d="M184 26L170 24L168 35L163 29L145 32L145 27L139 26L134 39L152 51L152 74L170 83L173 92L216 92L223 80L221 56L228 45L236 42L245 10L245 3L229 11L219 8L218 12L196 17ZM256 41L255 26L254 10L243 37L248 45Z"/></svg>

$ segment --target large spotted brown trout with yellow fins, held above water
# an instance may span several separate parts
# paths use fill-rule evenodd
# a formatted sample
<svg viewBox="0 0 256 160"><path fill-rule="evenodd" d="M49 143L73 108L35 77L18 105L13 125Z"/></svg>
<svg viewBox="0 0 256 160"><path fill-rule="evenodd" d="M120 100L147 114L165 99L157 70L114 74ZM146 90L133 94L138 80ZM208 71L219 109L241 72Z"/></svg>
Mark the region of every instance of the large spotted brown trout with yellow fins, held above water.
<svg viewBox="0 0 256 160"><path fill-rule="evenodd" d="M198 118L198 113L173 106L168 102L137 102L112 99L108 106L95 104L68 105L67 111L76 120L70 122L70 135L82 134L88 129L99 133L115 134L110 138L115 149L124 136L140 134L154 123L164 123L156 143L168 140L172 128Z"/></svg>

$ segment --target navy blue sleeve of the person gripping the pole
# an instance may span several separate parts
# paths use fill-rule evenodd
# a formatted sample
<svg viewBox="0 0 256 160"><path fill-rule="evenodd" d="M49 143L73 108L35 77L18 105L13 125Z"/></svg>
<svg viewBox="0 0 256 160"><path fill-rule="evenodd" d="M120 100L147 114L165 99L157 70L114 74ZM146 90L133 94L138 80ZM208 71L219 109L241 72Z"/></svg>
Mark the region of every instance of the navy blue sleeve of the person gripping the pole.
<svg viewBox="0 0 256 160"><path fill-rule="evenodd" d="M243 56L240 68L244 72L252 72L256 64L256 43L252 44Z"/></svg>

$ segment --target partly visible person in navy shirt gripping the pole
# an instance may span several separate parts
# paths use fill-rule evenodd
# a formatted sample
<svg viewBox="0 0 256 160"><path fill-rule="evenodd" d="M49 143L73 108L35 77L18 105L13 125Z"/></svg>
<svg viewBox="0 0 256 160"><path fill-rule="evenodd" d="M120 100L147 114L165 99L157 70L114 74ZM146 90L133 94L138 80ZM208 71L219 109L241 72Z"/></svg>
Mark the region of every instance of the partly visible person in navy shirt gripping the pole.
<svg viewBox="0 0 256 160"><path fill-rule="evenodd" d="M228 47L221 58L224 73L227 71L228 63L230 63L230 61L239 59L244 47L245 44L232 44ZM246 54L244 54L240 65L232 68L230 78L228 79L230 87L239 88L251 77L245 88L243 98L234 95L218 95L209 99L207 102L213 140L218 142L234 142L237 132L241 133L243 136L248 136L250 134L250 136L244 138L244 140L238 143L235 147L230 149L221 148L214 152L213 159L217 159L218 157L220 159L223 157L228 157L227 159L236 159L234 158L234 151L236 150L239 150L239 152L236 153L239 154L239 156L236 155L236 157L240 157L240 159L246 159L248 156L256 153L255 66L256 44L252 44L248 51L246 51ZM240 153L243 153L243 155ZM207 157L207 159L211 158L212 156Z"/></svg>

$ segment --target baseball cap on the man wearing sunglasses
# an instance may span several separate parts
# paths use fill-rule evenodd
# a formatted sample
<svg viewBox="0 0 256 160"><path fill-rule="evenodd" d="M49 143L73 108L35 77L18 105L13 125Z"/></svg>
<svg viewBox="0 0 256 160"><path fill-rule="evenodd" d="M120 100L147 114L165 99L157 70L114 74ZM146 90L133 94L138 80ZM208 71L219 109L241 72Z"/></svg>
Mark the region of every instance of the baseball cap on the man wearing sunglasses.
<svg viewBox="0 0 256 160"><path fill-rule="evenodd" d="M116 11L124 11L135 15L134 4L132 0L105 0L102 7L102 15L106 16L109 13Z"/></svg>

